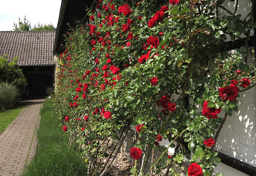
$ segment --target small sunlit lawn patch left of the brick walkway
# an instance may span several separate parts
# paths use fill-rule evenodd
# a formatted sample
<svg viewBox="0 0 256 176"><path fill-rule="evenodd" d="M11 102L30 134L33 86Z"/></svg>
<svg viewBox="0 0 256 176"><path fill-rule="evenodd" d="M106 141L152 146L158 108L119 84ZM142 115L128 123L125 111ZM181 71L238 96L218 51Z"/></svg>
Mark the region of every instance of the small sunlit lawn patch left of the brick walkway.
<svg viewBox="0 0 256 176"><path fill-rule="evenodd" d="M12 121L20 114L22 109L29 102L21 102L20 106L15 109L1 110L0 111L0 135L6 130L6 128L12 123Z"/></svg>

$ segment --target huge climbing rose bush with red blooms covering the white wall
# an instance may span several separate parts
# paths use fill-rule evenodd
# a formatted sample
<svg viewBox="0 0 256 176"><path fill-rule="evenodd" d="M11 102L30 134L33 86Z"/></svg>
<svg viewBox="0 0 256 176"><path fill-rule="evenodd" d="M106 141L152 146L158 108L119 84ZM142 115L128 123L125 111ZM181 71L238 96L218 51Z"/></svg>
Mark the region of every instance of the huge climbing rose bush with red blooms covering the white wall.
<svg viewBox="0 0 256 176"><path fill-rule="evenodd" d="M185 174L213 174L220 124L256 78L248 41L226 52L256 27L253 20L220 17L217 2L100 0L88 10L88 24L70 27L53 100L70 146L85 148L89 174L106 172L130 128L136 132L130 156L141 162L132 174L149 174L150 163L156 175L179 175L185 158ZM155 150L160 156L150 157Z"/></svg>

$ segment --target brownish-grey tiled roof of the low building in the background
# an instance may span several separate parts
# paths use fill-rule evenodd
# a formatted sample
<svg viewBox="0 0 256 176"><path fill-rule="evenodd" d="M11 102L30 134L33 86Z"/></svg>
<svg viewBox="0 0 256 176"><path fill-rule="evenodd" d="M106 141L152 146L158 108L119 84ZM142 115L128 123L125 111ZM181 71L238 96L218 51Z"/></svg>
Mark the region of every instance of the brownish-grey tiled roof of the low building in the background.
<svg viewBox="0 0 256 176"><path fill-rule="evenodd" d="M19 66L53 65L55 31L0 31L0 56L18 57Z"/></svg>

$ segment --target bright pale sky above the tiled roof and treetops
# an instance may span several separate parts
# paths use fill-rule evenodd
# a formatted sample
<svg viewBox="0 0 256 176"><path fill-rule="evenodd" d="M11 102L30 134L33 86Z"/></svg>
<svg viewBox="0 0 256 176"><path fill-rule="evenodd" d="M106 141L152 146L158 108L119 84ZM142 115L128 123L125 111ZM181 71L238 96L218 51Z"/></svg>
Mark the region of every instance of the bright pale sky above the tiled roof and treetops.
<svg viewBox="0 0 256 176"><path fill-rule="evenodd" d="M61 0L0 0L0 31L13 30L14 22L18 24L26 19L34 27L40 24L52 24L57 27Z"/></svg>

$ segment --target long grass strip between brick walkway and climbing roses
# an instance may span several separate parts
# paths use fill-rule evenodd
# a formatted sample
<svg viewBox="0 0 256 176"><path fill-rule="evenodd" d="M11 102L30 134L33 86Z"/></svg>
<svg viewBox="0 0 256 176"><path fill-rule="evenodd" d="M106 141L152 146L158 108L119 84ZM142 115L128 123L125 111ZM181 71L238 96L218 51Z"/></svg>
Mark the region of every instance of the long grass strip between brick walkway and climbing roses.
<svg viewBox="0 0 256 176"><path fill-rule="evenodd" d="M53 106L47 99L40 110L38 149L22 176L86 176L87 166L74 150L67 149L68 136L63 136Z"/></svg>

